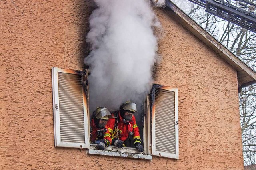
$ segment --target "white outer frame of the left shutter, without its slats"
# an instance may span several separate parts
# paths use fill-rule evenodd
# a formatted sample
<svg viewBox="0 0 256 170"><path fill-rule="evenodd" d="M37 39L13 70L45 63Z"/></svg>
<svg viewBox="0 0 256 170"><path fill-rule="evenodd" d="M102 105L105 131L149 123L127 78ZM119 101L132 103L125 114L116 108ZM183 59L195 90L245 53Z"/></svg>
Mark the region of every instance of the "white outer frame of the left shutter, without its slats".
<svg viewBox="0 0 256 170"><path fill-rule="evenodd" d="M58 93L58 72L78 74L74 70L70 69L60 69L57 67L52 67L52 93L53 93L53 113L54 113L54 144L55 147L72 147L72 148L89 148L89 108L87 104L87 96L83 91L83 101L84 101L84 135L85 143L71 143L71 142L61 142L60 141L60 111L56 109L55 106L59 106L59 93Z"/></svg>

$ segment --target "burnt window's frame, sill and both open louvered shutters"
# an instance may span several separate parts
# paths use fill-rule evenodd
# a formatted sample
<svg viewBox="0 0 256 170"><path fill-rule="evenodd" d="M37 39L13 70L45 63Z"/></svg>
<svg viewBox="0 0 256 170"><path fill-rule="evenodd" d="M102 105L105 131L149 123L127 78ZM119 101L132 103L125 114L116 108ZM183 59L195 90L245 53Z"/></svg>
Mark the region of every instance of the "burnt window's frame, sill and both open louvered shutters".
<svg viewBox="0 0 256 170"><path fill-rule="evenodd" d="M88 148L89 154L152 159L178 159L178 89L153 85L144 103L144 153L135 148L95 149L90 144L87 72L52 68L54 138L56 147Z"/></svg>

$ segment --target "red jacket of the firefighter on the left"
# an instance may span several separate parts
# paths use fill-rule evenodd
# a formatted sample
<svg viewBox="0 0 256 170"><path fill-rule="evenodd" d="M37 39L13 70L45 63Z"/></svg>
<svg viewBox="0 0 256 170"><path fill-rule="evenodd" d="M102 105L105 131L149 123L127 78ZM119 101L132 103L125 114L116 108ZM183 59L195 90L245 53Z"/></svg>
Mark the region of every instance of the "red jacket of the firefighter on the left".
<svg viewBox="0 0 256 170"><path fill-rule="evenodd" d="M104 131L104 129L100 129L100 128L96 127L94 119L92 119L92 121L90 123L90 141L91 141L91 143L95 143L96 140L106 139L107 140L106 147L108 147L110 145L111 138L110 138L109 133L107 133L108 132L107 128L106 128L106 132L103 132L102 136L98 136L98 132L97 132L98 130Z"/></svg>

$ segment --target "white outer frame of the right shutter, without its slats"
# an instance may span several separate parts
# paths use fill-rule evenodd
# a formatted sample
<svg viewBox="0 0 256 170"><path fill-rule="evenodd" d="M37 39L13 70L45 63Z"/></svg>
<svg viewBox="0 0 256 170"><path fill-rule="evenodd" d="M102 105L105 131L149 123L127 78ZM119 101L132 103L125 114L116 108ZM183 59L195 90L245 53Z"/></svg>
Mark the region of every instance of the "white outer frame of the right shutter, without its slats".
<svg viewBox="0 0 256 170"><path fill-rule="evenodd" d="M175 123L178 122L178 89L176 88L170 88L170 87L160 87L160 89L165 89L168 91L174 91L174 100L175 100ZM166 158L173 158L173 159L179 159L179 126L176 125L175 128L175 154L171 154L168 152L159 152L156 151L156 117L155 117L155 110L153 108L152 110L152 155L155 156L162 156L162 157L166 157Z"/></svg>

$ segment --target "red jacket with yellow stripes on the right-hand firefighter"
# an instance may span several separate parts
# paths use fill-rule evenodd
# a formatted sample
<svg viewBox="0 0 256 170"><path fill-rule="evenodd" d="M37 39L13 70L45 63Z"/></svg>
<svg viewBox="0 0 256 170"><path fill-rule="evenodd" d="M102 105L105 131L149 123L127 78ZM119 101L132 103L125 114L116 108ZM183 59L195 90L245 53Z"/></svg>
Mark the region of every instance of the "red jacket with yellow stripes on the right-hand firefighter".
<svg viewBox="0 0 256 170"><path fill-rule="evenodd" d="M136 142L139 142L141 144L141 140L140 140L140 132L139 132L139 128L136 124L136 120L135 117L132 116L132 120L129 122L129 124L124 123L123 122L123 118L120 115L120 111L118 111L118 130L120 130L119 134L118 134L118 138L119 140L125 141L128 137L129 137L129 133L133 132L133 140L134 140L134 144ZM115 116L114 113L112 113L112 116ZM108 123L106 125L107 128L107 132L106 134L109 134L110 136L112 136L111 138L113 139L113 130L114 130L114 126L115 126L115 118L110 118L108 120ZM132 136L131 136L132 137Z"/></svg>

